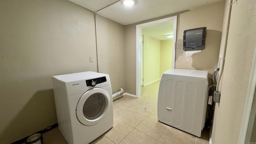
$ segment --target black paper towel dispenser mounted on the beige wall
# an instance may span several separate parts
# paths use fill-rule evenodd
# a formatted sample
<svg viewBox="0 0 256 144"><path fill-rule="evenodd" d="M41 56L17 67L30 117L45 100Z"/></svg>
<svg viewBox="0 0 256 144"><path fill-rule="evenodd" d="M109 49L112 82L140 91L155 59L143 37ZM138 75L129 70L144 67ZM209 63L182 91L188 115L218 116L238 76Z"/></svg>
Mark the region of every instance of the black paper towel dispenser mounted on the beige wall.
<svg viewBox="0 0 256 144"><path fill-rule="evenodd" d="M205 48L206 27L184 30L183 50L203 50Z"/></svg>

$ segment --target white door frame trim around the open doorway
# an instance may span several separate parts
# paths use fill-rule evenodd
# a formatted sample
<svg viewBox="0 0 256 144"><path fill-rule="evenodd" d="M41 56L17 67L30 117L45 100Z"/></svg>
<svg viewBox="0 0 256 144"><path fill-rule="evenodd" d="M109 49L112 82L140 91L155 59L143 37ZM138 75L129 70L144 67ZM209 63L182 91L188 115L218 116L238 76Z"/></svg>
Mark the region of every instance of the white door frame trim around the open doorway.
<svg viewBox="0 0 256 144"><path fill-rule="evenodd" d="M155 20L152 22L146 22L144 24L136 25L136 97L139 98L141 95L141 52L142 52L142 31L143 26L148 26L152 24L157 24L161 22L166 22L174 20L173 26L173 46L172 46L172 69L175 67L175 50L176 50L176 36L177 36L177 16L172 16L169 18L164 18L160 20Z"/></svg>

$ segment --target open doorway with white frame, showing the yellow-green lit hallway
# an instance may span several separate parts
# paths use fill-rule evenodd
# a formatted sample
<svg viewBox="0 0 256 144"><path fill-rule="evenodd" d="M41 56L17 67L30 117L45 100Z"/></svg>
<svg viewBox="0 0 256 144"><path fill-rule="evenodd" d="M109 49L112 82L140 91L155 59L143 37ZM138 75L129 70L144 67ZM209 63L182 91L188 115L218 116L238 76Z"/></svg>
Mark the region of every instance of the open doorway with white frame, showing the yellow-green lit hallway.
<svg viewBox="0 0 256 144"><path fill-rule="evenodd" d="M175 67L176 29L177 16L136 25L136 97Z"/></svg>

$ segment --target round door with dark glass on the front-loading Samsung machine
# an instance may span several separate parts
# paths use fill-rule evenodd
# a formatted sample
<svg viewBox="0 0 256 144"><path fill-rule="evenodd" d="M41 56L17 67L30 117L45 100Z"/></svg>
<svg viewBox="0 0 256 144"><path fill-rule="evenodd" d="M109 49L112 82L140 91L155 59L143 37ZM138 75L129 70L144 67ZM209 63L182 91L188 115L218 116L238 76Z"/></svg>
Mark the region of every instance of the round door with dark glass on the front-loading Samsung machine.
<svg viewBox="0 0 256 144"><path fill-rule="evenodd" d="M108 113L110 96L103 88L92 88L86 91L76 106L76 117L86 126L100 122Z"/></svg>

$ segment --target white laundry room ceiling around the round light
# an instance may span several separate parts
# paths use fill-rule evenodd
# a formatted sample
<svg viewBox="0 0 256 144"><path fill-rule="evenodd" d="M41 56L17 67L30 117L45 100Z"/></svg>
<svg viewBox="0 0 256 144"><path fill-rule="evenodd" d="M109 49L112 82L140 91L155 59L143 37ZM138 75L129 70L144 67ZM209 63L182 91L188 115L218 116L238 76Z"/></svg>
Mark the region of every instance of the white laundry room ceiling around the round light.
<svg viewBox="0 0 256 144"><path fill-rule="evenodd" d="M124 6L122 0L69 0L122 25L134 24L222 0L135 0L134 6ZM120 1L120 2L118 2Z"/></svg>

